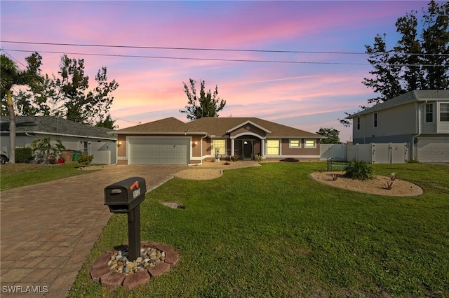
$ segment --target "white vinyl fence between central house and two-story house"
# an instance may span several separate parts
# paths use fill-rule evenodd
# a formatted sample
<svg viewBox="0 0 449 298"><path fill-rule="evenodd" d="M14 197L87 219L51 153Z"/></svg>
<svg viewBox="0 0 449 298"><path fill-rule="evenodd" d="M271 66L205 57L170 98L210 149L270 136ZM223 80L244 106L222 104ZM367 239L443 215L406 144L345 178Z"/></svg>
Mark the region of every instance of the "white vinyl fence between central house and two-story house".
<svg viewBox="0 0 449 298"><path fill-rule="evenodd" d="M408 162L408 143L321 144L320 160L359 160L368 164L404 164Z"/></svg>

